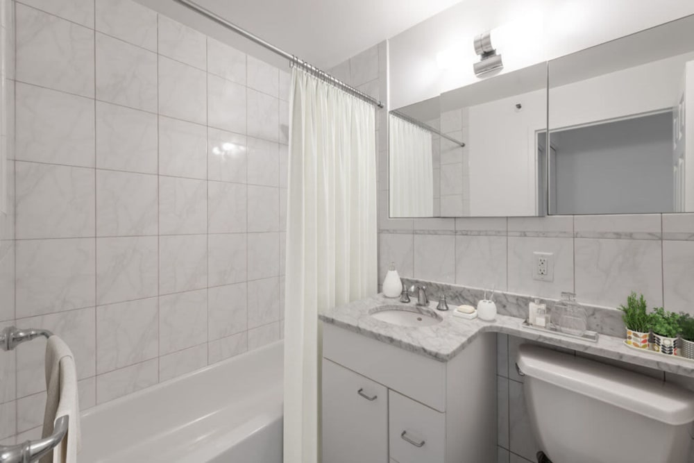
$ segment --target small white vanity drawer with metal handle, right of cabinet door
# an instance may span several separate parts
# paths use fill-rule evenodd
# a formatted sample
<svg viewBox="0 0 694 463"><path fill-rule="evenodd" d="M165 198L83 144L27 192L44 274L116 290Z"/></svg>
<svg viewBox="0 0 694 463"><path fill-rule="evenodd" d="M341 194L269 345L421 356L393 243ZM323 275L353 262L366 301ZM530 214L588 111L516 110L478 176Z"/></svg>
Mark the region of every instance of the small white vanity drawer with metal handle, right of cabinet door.
<svg viewBox="0 0 694 463"><path fill-rule="evenodd" d="M397 392L388 393L391 458L399 463L444 463L446 414Z"/></svg>

